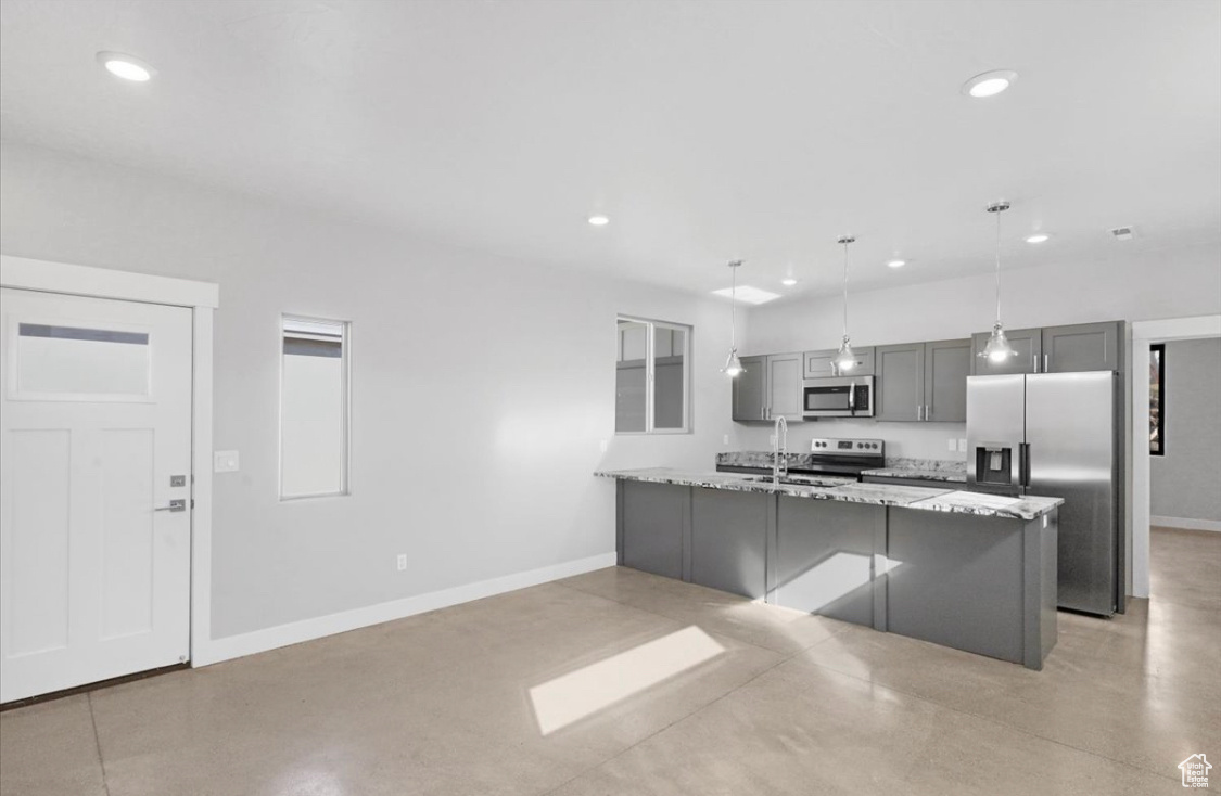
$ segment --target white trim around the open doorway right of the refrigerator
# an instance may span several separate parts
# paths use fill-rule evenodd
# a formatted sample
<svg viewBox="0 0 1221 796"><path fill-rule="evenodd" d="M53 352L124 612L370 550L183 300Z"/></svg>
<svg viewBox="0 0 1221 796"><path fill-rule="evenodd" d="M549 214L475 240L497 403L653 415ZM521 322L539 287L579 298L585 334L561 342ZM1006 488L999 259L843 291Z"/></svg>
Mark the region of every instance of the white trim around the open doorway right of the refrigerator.
<svg viewBox="0 0 1221 796"><path fill-rule="evenodd" d="M1149 344L1221 337L1221 315L1132 324L1132 596L1149 596ZM1140 442L1137 442L1137 441Z"/></svg>

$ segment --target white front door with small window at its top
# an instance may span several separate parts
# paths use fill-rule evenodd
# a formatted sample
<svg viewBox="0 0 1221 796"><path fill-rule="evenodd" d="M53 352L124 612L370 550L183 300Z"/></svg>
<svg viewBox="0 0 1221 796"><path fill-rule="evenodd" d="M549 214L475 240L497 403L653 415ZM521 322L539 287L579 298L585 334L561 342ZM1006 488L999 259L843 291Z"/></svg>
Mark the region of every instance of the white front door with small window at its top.
<svg viewBox="0 0 1221 796"><path fill-rule="evenodd" d="M4 288L0 336L0 702L187 660L190 310Z"/></svg>

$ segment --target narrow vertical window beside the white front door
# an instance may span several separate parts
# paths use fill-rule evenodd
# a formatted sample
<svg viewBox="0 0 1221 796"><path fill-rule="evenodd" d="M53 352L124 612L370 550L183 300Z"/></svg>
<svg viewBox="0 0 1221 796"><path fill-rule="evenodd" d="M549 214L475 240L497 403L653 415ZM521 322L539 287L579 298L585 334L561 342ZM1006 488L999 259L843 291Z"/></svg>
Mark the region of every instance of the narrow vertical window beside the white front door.
<svg viewBox="0 0 1221 796"><path fill-rule="evenodd" d="M284 316L280 498L348 493L348 324Z"/></svg>

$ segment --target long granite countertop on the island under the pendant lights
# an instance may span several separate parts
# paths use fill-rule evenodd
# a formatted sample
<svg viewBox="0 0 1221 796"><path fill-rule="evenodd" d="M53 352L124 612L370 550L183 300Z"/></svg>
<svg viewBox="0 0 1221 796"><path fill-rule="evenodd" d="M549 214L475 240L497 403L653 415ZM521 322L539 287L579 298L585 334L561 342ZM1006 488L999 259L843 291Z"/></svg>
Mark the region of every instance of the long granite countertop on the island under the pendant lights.
<svg viewBox="0 0 1221 796"><path fill-rule="evenodd" d="M645 468L640 470L604 470L595 475L651 483L697 486L731 492L764 492L816 501L844 501L894 505L929 512L952 512L978 516L1002 516L1033 520L1063 503L1060 498L1001 498L974 492L954 492L919 486L895 486L889 483L857 483L846 479L817 479L817 485L772 485L770 477L747 476L736 472L703 472L670 468Z"/></svg>

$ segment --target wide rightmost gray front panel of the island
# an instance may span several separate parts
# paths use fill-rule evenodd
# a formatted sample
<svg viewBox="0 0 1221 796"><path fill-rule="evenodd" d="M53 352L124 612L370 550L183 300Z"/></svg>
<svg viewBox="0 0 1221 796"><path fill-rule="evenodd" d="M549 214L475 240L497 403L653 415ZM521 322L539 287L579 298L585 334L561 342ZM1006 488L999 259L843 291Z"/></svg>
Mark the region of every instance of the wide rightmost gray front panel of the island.
<svg viewBox="0 0 1221 796"><path fill-rule="evenodd" d="M890 509L890 632L1023 663L1023 520Z"/></svg>

